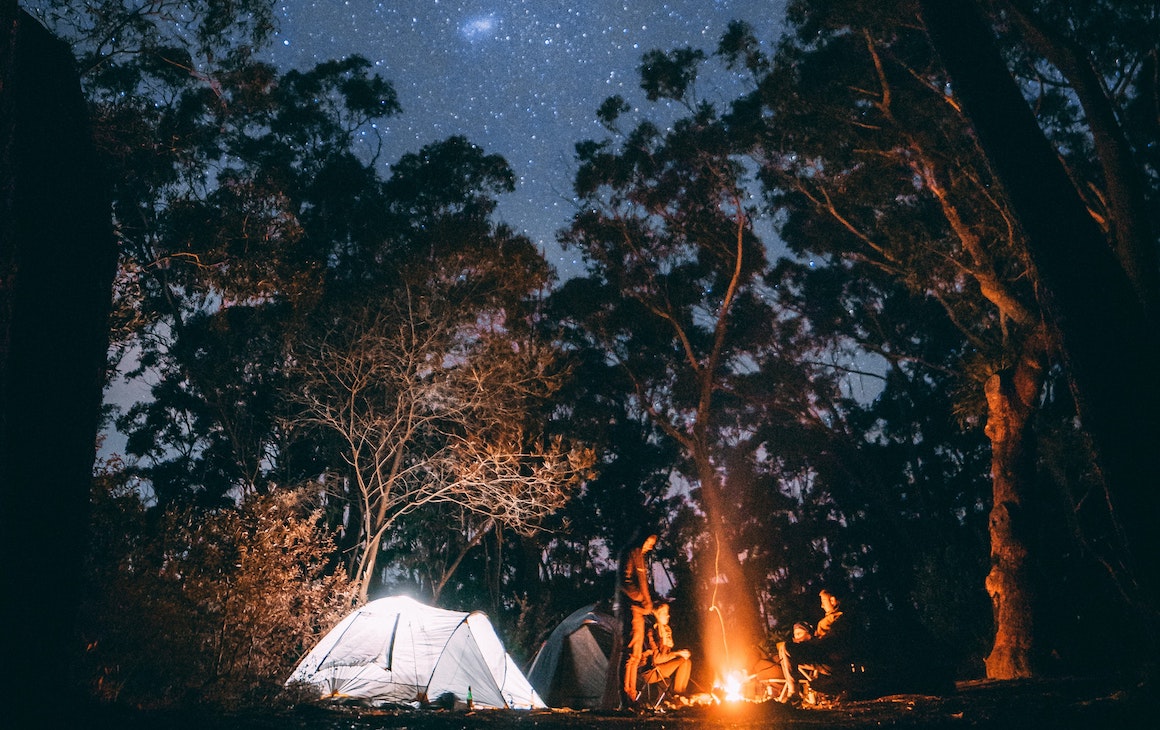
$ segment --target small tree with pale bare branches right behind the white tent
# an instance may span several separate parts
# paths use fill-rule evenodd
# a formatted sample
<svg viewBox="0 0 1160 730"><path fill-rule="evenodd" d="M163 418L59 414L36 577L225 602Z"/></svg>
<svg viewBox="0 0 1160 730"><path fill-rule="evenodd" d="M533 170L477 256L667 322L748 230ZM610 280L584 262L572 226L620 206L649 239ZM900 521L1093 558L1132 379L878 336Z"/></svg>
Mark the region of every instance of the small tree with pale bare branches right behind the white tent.
<svg viewBox="0 0 1160 730"><path fill-rule="evenodd" d="M361 600L399 518L450 504L527 534L592 463L585 449L529 432L531 409L560 377L551 350L480 328L486 310L447 309L438 294L404 289L397 304L362 317L345 310L347 319L296 352L290 399L300 410L287 427L340 444L345 465L328 480L350 506Z"/></svg>

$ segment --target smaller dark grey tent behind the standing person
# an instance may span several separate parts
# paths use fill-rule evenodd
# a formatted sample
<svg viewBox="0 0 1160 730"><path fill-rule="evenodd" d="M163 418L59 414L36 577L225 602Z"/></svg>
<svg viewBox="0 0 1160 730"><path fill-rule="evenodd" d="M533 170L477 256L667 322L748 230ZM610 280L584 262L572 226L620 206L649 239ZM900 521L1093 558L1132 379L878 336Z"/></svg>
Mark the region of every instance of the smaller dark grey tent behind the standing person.
<svg viewBox="0 0 1160 730"><path fill-rule="evenodd" d="M616 619L595 603L573 612L548 635L528 670L528 681L549 707L602 709L615 702L609 657L619 637ZM615 672L614 672L615 674Z"/></svg>

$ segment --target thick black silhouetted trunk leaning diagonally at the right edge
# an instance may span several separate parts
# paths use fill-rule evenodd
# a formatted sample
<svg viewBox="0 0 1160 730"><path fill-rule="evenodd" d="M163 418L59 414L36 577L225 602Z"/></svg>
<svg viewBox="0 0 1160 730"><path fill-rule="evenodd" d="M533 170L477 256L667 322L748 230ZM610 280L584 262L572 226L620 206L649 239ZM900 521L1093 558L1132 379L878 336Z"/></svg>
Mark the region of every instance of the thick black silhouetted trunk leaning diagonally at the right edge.
<svg viewBox="0 0 1160 730"><path fill-rule="evenodd" d="M979 8L970 0L920 0L920 5L955 95L1027 234L1080 417L1126 539L1124 562L1138 586L1134 598L1144 617L1140 639L1155 643L1157 323L1148 321L1129 277L1036 124Z"/></svg>

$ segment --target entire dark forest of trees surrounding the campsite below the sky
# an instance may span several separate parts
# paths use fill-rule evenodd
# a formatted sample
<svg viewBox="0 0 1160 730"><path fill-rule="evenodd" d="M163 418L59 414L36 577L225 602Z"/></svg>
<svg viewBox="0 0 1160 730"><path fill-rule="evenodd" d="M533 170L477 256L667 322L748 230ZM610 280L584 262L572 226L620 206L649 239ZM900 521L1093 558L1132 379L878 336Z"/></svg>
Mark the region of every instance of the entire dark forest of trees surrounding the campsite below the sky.
<svg viewBox="0 0 1160 730"><path fill-rule="evenodd" d="M641 527L705 686L826 586L954 679L1153 678L1154 2L800 0L774 45L650 50L655 106L564 151L568 277L496 222L503 158L368 147L406 113L367 59L264 62L273 3L29 5L0 527L35 699L280 706L396 593L527 667ZM147 397L101 404L124 363Z"/></svg>

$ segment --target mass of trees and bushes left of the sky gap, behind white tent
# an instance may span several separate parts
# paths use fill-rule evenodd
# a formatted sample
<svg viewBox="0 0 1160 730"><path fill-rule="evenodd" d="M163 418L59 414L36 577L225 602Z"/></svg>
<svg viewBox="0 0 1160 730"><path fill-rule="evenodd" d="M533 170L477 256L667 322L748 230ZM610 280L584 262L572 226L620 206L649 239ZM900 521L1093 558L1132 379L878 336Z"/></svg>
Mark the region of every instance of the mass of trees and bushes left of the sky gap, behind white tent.
<svg viewBox="0 0 1160 730"><path fill-rule="evenodd" d="M116 534L143 551L137 563L183 550L157 558L160 583L128 562L94 565L94 586L143 612L142 630L106 622L101 601L114 594L93 597L88 628L106 650L96 668L118 657L158 667L160 684L122 699L177 701L197 687L188 696L232 701L231 678L268 680L306 641L295 629L249 659L241 649L284 615L280 600L321 585L311 571L334 583L293 626L320 629L306 622L403 574L377 566L384 534L394 547L404 534L422 540L412 561L448 544L462 554L488 533L534 530L585 474L590 455L543 429L565 373L532 327L551 272L530 240L492 221L495 196L514 185L502 159L463 138L391 167L379 159L375 123L399 106L365 59L289 72L256 60L269 2L59 9L43 16L77 49L115 181L110 356L150 384L117 418L131 461L115 478L133 489L110 505L129 521ZM356 374L370 381L343 380ZM277 595L237 590L263 570L242 557L258 551L251 523L261 518L248 511L291 496L317 509L302 519L326 558L282 573L267 556L269 578L284 579L266 586ZM463 511L477 529L461 540L458 520L427 519L423 507ZM284 527L302 526L289 512ZM168 520L188 529L157 526ZM422 588L438 597L461 564L451 557ZM248 608L232 602L242 597ZM493 610L509 600L490 598ZM478 607L476 595L448 600ZM188 635L166 630L179 619ZM146 645L150 629L165 639ZM150 653L162 651L188 663L167 673ZM239 687L251 699L268 689Z"/></svg>

